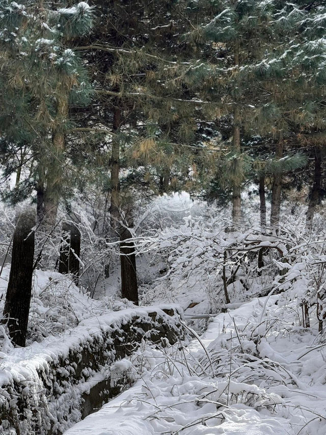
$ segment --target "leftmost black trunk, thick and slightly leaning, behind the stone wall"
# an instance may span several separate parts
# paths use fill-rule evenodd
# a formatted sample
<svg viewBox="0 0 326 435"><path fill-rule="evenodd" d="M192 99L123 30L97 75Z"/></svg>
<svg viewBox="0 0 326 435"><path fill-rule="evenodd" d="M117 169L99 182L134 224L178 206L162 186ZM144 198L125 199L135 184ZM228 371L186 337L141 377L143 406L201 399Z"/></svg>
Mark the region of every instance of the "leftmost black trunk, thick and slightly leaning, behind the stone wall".
<svg viewBox="0 0 326 435"><path fill-rule="evenodd" d="M25 346L29 320L34 261L35 213L28 210L17 221L12 245L12 260L4 309L12 342Z"/></svg>

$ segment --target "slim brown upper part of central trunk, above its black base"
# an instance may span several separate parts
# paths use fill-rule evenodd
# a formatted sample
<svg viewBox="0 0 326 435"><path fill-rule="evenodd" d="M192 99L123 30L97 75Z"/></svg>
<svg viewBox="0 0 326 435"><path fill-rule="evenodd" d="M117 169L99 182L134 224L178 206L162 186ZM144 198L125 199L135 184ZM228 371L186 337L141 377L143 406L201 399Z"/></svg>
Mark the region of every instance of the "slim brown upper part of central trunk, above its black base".
<svg viewBox="0 0 326 435"><path fill-rule="evenodd" d="M116 100L116 104L119 101ZM113 132L117 135L119 133L121 123L121 108L116 106L113 114ZM117 136L112 139L112 153L111 153L111 207L110 217L111 226L118 234L119 221L120 221L120 141Z"/></svg>

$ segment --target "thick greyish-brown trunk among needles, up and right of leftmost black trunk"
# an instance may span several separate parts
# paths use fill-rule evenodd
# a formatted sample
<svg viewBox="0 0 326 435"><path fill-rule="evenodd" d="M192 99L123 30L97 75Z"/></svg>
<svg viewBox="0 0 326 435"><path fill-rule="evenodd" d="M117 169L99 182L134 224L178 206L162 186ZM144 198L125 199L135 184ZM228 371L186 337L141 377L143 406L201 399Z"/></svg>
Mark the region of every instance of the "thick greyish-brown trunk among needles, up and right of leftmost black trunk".
<svg viewBox="0 0 326 435"><path fill-rule="evenodd" d="M69 111L69 88L62 83L58 91L56 126L52 129L52 149L46 170L44 192L44 223L53 227L56 223L58 205L62 193L63 152L65 150L65 125Z"/></svg>

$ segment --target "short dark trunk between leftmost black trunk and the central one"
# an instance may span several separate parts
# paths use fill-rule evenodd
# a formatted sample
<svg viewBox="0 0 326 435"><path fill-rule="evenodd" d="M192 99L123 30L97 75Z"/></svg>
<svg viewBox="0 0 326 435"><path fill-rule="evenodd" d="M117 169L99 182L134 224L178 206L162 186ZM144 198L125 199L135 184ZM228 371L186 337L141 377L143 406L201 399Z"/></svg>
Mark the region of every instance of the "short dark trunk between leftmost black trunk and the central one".
<svg viewBox="0 0 326 435"><path fill-rule="evenodd" d="M73 282L78 286L80 257L80 232L76 225L68 222L62 224L62 243L60 246L59 272L71 273Z"/></svg>

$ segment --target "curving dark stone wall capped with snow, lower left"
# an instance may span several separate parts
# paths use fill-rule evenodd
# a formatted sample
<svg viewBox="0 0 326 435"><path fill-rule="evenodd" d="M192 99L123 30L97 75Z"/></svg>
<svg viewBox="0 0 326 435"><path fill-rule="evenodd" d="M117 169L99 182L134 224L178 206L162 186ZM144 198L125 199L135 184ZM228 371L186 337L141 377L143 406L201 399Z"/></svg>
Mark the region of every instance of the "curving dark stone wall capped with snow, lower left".
<svg viewBox="0 0 326 435"><path fill-rule="evenodd" d="M0 432L63 433L132 383L128 361L117 362L142 340L182 338L181 316L176 306L122 310L24 348L20 361L0 365Z"/></svg>

